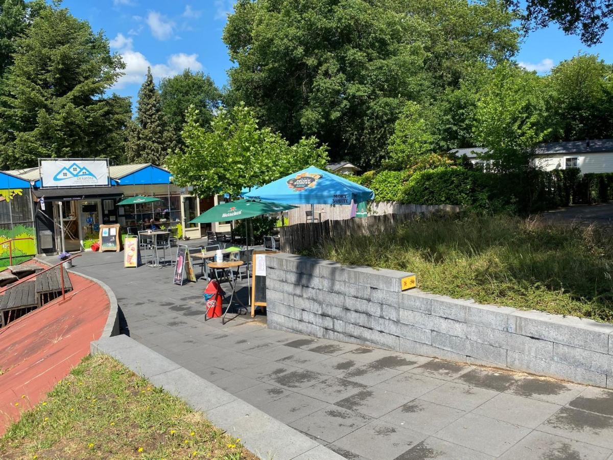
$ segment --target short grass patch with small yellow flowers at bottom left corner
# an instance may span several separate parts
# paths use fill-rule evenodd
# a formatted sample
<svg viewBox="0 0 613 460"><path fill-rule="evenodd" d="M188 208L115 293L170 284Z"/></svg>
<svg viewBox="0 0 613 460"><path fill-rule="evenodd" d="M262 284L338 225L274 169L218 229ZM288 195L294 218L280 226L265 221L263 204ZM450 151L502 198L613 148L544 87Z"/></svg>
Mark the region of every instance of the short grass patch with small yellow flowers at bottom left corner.
<svg viewBox="0 0 613 460"><path fill-rule="evenodd" d="M0 439L2 459L255 459L238 439L109 356L79 366Z"/></svg>

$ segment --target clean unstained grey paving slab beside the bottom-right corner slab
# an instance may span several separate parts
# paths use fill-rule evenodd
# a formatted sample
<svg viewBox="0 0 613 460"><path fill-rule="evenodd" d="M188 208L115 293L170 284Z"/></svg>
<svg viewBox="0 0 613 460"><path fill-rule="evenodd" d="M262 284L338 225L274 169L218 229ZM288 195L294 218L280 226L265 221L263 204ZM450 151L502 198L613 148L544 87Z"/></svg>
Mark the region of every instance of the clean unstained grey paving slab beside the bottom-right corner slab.
<svg viewBox="0 0 613 460"><path fill-rule="evenodd" d="M483 435L487 433L487 435ZM484 454L499 456L530 433L530 429L468 413L450 423L436 437Z"/></svg>

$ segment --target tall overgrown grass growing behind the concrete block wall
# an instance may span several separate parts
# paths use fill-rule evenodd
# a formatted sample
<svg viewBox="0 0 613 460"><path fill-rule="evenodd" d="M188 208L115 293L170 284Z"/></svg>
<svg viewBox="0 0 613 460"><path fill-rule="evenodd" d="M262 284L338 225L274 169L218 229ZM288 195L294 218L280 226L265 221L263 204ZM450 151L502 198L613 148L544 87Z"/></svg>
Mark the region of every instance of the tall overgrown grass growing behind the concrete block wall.
<svg viewBox="0 0 613 460"><path fill-rule="evenodd" d="M613 320L610 229L497 215L409 221L378 236L313 250L345 264L417 274L417 287L456 298Z"/></svg>

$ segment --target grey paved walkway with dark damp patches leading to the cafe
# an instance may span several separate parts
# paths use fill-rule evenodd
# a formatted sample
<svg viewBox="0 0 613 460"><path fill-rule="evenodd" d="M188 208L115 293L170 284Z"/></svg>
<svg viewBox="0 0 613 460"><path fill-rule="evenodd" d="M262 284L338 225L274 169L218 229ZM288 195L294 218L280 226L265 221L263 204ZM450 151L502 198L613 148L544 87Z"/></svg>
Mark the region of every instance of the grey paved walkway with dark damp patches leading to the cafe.
<svg viewBox="0 0 613 460"><path fill-rule="evenodd" d="M273 331L265 316L205 323L204 282L122 257L87 253L75 270L115 291L131 337L348 459L613 459L613 391Z"/></svg>

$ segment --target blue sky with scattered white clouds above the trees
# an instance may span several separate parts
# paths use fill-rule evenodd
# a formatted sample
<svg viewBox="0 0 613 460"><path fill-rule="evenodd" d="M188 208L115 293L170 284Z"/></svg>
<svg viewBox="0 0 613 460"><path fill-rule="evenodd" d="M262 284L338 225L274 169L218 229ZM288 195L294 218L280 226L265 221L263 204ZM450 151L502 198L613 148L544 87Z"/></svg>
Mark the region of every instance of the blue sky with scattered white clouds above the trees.
<svg viewBox="0 0 613 460"><path fill-rule="evenodd" d="M218 86L227 81L230 67L221 40L226 15L234 0L64 0L73 15L89 21L94 31L104 30L112 50L121 53L126 75L113 88L135 102L151 66L156 81L185 67L211 75ZM555 64L577 52L598 53L613 63L613 31L603 43L588 48L555 26L531 33L522 43L517 61L545 74Z"/></svg>

